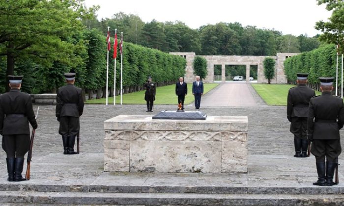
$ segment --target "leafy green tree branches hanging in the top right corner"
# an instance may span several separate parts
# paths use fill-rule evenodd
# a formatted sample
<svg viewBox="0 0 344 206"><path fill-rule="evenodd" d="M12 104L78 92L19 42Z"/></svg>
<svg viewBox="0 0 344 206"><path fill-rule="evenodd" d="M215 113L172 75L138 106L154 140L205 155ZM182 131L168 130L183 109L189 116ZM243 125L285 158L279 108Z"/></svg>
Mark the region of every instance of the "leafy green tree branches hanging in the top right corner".
<svg viewBox="0 0 344 206"><path fill-rule="evenodd" d="M344 1L317 0L318 5L326 4L326 9L332 11L330 21L316 22L315 28L323 32L319 39L330 44L340 45L339 52L344 53Z"/></svg>

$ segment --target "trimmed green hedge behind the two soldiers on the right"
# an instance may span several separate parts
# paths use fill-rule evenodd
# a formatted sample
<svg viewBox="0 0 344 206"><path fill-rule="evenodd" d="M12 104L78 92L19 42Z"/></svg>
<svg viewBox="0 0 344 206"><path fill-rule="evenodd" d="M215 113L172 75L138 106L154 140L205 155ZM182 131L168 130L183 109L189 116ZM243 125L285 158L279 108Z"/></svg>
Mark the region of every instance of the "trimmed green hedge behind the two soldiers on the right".
<svg viewBox="0 0 344 206"><path fill-rule="evenodd" d="M338 85L341 84L341 56L338 57ZM309 85L319 90L318 77L336 78L336 47L326 45L311 52L302 52L284 62L288 83L296 83L296 73L309 73Z"/></svg>

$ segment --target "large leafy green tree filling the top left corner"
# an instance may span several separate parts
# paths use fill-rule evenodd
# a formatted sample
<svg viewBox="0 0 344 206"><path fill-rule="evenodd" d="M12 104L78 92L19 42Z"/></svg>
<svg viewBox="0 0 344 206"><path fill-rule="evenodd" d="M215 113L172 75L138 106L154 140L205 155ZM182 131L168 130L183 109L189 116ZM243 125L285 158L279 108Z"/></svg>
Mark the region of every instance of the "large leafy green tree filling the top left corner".
<svg viewBox="0 0 344 206"><path fill-rule="evenodd" d="M14 74L18 58L31 58L46 67L57 60L74 64L75 44L66 40L83 29L82 2L1 0L0 55L6 56L6 75Z"/></svg>

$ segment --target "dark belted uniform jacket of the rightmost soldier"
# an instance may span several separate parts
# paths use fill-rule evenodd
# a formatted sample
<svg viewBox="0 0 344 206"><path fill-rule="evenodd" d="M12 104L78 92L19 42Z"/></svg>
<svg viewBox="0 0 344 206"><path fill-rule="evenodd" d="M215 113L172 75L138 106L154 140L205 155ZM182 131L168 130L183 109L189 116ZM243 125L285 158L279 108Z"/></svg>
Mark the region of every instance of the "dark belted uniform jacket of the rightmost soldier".
<svg viewBox="0 0 344 206"><path fill-rule="evenodd" d="M344 125L344 104L331 92L311 98L307 120L307 135L312 139L340 139Z"/></svg>

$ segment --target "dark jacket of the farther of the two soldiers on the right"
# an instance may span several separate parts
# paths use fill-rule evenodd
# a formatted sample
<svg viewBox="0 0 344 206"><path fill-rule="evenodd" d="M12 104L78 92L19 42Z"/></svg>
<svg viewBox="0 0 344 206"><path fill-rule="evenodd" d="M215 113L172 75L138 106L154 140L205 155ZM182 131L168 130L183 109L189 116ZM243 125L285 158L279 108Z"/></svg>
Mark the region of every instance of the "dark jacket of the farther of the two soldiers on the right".
<svg viewBox="0 0 344 206"><path fill-rule="evenodd" d="M315 96L315 91L299 84L289 89L287 98L287 117L307 117L310 99Z"/></svg>

